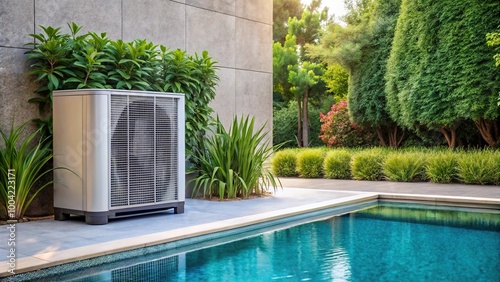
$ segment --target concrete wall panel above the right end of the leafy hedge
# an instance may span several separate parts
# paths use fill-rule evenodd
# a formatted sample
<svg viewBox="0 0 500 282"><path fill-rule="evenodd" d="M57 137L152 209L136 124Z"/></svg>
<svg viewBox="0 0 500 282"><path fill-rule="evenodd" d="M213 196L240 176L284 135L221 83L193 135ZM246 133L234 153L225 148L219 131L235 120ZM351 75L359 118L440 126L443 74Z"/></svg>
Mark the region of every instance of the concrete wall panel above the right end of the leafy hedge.
<svg viewBox="0 0 500 282"><path fill-rule="evenodd" d="M234 67L235 18L196 7L186 7L186 49L207 50L219 66Z"/></svg>

